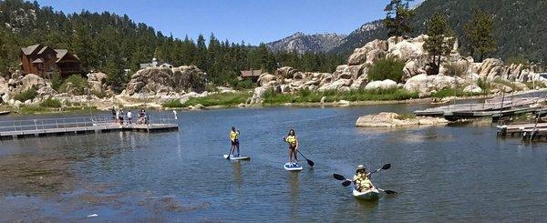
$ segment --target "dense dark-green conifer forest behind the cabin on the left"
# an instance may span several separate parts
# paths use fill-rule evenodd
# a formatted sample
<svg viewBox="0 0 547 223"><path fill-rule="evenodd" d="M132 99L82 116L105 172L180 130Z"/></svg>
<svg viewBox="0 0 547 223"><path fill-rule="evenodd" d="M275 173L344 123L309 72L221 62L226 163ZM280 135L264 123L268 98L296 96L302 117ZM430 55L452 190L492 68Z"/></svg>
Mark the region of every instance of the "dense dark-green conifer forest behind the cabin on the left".
<svg viewBox="0 0 547 223"><path fill-rule="evenodd" d="M194 65L217 85L233 84L241 70L274 71L293 66L304 71L334 72L346 58L322 53L271 52L263 44L221 41L211 34L206 40L164 35L149 25L133 22L128 15L82 11L65 15L51 6L40 7L23 0L0 1L0 71L18 67L21 47L42 44L66 48L76 54L88 71L108 75L108 84L123 86L129 80L123 70L139 70L152 57L173 66ZM5 26L4 26L5 24Z"/></svg>

